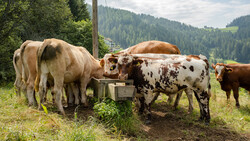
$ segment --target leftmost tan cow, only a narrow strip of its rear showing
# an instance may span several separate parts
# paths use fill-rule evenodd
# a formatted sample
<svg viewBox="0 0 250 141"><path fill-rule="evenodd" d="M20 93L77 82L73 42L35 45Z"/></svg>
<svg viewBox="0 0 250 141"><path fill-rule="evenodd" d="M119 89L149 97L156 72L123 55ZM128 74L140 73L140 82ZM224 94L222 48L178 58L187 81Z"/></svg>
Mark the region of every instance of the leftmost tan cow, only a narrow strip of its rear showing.
<svg viewBox="0 0 250 141"><path fill-rule="evenodd" d="M21 49L19 48L14 52L13 56L13 66L16 72L16 80L14 86L16 95L19 97L21 96L21 91L24 92L24 95L26 96L25 85L22 81L22 62L21 62L20 52Z"/></svg>

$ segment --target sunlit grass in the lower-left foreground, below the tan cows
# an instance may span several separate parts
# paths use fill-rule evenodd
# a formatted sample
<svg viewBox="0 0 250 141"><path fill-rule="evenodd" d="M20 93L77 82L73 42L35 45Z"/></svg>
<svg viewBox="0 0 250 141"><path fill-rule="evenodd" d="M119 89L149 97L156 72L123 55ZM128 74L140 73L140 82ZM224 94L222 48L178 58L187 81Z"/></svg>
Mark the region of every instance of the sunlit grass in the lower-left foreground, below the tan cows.
<svg viewBox="0 0 250 141"><path fill-rule="evenodd" d="M28 107L24 96L11 95L14 89L0 88L0 140L117 140L95 118L69 120Z"/></svg>

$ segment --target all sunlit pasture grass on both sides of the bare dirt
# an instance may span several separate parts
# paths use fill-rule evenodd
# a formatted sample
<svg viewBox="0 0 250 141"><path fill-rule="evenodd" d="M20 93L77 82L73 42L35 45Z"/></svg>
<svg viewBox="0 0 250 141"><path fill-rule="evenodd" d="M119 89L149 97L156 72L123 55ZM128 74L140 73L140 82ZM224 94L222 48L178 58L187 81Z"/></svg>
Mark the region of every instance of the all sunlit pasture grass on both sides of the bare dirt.
<svg viewBox="0 0 250 141"><path fill-rule="evenodd" d="M212 97L210 100L211 128L230 128L239 134L250 133L250 95L240 89L239 101L241 107L235 106L233 94L227 102L226 94L220 89L219 83L211 74ZM162 95L156 103L166 101L167 96ZM155 106L155 105L153 105ZM179 111L188 110L188 100L183 94ZM194 98L194 112L185 117L179 117L185 123L204 126L196 122L199 117L197 100ZM52 111L51 111L52 110ZM173 111L175 114L176 111ZM174 114L168 114L171 118ZM175 115L174 115L175 116ZM115 128L115 127L114 127ZM204 127L205 128L205 127ZM13 88L0 88L0 140L122 140L126 135L121 132L111 132L95 117L87 121L63 118L48 108L48 113L28 107L24 96L16 97ZM194 132L183 130L183 134L191 135ZM203 137L205 133L200 133ZM192 135L197 136L197 135ZM133 136L136 140L145 140L142 136Z"/></svg>

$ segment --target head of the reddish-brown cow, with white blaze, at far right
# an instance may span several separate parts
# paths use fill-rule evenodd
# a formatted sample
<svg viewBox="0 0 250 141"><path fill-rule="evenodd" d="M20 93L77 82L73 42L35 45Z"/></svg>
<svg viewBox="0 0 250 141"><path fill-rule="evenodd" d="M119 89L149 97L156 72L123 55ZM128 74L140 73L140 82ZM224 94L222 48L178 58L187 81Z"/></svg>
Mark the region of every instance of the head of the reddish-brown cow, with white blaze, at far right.
<svg viewBox="0 0 250 141"><path fill-rule="evenodd" d="M223 81L223 76L225 73L232 71L231 68L227 68L227 66L223 63L217 63L216 65L212 64L212 67L215 70L216 80L219 82Z"/></svg>

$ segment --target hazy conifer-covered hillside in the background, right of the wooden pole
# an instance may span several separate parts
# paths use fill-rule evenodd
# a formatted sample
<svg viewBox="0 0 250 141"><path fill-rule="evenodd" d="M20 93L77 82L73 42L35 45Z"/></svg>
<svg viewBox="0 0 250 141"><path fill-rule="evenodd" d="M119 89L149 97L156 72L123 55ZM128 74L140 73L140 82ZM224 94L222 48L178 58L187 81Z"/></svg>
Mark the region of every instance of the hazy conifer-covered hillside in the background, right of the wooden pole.
<svg viewBox="0 0 250 141"><path fill-rule="evenodd" d="M91 13L90 6L89 11ZM219 29L210 31L104 6L99 6L98 15L100 34L124 49L142 41L160 40L177 45L182 54L203 54L210 58L212 53L216 57L210 59L213 63L218 59L250 63L250 40L248 35L241 34L240 28L235 33Z"/></svg>

